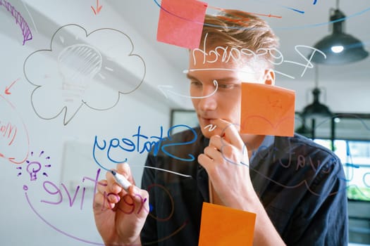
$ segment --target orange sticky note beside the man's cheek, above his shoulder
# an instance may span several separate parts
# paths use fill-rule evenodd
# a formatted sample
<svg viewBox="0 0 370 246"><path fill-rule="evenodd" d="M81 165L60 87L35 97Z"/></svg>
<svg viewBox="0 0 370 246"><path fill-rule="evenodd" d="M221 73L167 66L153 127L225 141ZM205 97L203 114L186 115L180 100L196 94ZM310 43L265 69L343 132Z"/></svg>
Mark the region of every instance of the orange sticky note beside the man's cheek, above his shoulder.
<svg viewBox="0 0 370 246"><path fill-rule="evenodd" d="M242 83L241 134L293 136L295 91Z"/></svg>

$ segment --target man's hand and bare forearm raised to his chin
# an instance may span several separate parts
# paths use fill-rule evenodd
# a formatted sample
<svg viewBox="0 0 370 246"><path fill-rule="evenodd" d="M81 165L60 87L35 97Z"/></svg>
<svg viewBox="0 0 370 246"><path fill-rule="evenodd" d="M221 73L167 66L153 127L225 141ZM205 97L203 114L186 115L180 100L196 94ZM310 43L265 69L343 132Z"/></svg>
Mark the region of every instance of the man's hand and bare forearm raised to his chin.
<svg viewBox="0 0 370 246"><path fill-rule="evenodd" d="M257 214L253 245L285 245L254 191L249 176L248 150L238 129L223 119L216 119L220 135L211 136L199 164L206 169L220 205ZM220 132L220 131L218 131Z"/></svg>

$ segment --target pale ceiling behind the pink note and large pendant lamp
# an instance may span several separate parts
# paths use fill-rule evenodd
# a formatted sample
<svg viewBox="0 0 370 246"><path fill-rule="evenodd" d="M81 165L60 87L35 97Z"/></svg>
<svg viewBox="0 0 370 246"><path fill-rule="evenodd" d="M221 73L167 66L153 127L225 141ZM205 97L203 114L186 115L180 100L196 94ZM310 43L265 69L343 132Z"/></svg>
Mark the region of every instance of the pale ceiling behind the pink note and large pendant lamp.
<svg viewBox="0 0 370 246"><path fill-rule="evenodd" d="M187 55L185 48L156 41L156 30L159 20L160 0L135 0L135 1L112 1L111 5L118 9L135 29L140 30L142 37L149 41L154 49L160 51L176 70L182 71L187 67ZM209 0L206 1L209 8L206 13L215 13L214 8L230 8L247 11L278 15L281 18L264 18L269 22L277 36L280 38L280 52L285 60L307 64L307 61L295 51L295 46L314 46L316 41L329 34L331 25L328 23L329 11L335 8L335 0ZM364 27L364 23L370 23L370 2L367 0L340 1L340 10L345 13L345 32L357 37L370 51L370 28ZM295 10L292 10L292 9ZM298 12L300 11L300 12ZM304 12L304 13L303 13ZM309 55L309 49L301 49L304 56ZM287 76L279 76L278 81L284 82L309 82L314 85L314 70L292 63L283 63L276 70ZM320 65L319 81L347 82L348 80L368 82L370 75L370 58L349 65ZM302 76L302 77L301 77Z"/></svg>

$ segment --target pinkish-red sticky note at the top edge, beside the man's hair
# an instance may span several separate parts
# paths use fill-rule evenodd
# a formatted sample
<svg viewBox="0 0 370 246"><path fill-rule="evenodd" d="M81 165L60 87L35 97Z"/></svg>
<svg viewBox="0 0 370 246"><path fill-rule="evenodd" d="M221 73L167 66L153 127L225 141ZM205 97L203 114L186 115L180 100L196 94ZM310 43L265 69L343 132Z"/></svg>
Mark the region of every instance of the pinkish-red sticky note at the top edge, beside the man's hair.
<svg viewBox="0 0 370 246"><path fill-rule="evenodd" d="M198 48L207 4L195 0L162 0L156 39L166 44Z"/></svg>

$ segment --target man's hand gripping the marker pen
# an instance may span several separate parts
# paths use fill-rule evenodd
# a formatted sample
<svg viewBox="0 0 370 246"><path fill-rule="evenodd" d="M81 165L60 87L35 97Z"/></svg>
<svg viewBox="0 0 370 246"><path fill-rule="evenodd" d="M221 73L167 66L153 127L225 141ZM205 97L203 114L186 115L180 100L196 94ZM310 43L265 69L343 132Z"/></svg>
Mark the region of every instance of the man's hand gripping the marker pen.
<svg viewBox="0 0 370 246"><path fill-rule="evenodd" d="M133 185L128 192L116 183L110 172L99 181L94 196L94 219L106 245L140 245L140 231L149 214L149 194L135 186L127 163L115 170Z"/></svg>

